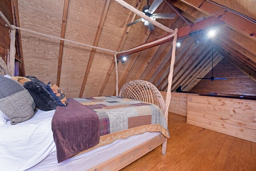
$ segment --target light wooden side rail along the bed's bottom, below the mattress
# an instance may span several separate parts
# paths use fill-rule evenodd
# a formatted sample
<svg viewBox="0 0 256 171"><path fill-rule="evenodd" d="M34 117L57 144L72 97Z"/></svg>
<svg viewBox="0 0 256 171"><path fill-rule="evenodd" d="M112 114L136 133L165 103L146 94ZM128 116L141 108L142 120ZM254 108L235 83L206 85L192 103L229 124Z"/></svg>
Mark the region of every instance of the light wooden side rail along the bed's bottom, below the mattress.
<svg viewBox="0 0 256 171"><path fill-rule="evenodd" d="M88 171L109 171L109 170L120 170L123 167L129 165L133 161L137 160L138 158L142 157L146 153L152 151L162 143L166 141L166 137L164 135L160 134L156 137L124 152L120 155L109 159L108 161L105 161L95 167L92 167L91 169L88 169Z"/></svg>

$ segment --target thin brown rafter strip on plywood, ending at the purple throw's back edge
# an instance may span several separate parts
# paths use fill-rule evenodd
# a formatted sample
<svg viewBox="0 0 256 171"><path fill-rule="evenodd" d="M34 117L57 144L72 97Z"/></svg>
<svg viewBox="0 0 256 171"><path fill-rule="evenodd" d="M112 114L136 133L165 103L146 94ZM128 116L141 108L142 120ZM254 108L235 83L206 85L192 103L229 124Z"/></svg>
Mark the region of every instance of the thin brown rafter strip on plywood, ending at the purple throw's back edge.
<svg viewBox="0 0 256 171"><path fill-rule="evenodd" d="M94 37L93 46L97 46L98 45L98 41L100 39L100 34L101 34L102 26L104 24L104 21L105 21L107 12L108 12L109 4L110 4L110 0L106 0L105 4L104 4L104 10L102 11L102 14L101 14L101 17L100 17L100 21L99 21L99 24L98 24L96 35ZM79 97L82 97L83 94L84 94L85 84L86 84L86 81L87 81L88 76L89 76L89 72L90 72L90 68L92 66L92 61L93 61L93 58L94 58L95 51L96 51L96 49L92 48L91 53L90 53L90 58L88 60L87 66L86 66L86 71L85 71L85 74L84 74L84 80L83 80L83 83L82 83L82 86L81 86Z"/></svg>

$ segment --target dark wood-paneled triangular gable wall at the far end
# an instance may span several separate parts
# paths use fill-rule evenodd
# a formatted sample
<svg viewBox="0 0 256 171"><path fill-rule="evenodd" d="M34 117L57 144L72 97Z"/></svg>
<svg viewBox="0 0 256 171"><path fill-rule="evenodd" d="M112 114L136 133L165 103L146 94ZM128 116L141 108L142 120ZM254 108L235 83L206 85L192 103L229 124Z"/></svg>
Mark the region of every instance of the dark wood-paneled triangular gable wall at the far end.
<svg viewBox="0 0 256 171"><path fill-rule="evenodd" d="M212 71L206 74L206 78L212 76ZM226 93L240 95L256 95L256 82L227 60L222 61L214 67L214 77L228 78L228 80L200 80L190 92L198 94Z"/></svg>

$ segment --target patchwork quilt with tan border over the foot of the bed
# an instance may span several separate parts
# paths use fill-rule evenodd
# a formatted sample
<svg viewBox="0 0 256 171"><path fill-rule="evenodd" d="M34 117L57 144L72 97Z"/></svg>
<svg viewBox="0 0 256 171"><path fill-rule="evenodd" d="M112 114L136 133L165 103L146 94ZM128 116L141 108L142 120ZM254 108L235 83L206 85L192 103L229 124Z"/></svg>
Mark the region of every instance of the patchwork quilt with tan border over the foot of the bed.
<svg viewBox="0 0 256 171"><path fill-rule="evenodd" d="M162 111L151 103L116 96L74 100L95 111L99 117L100 141L91 149L144 132L160 131L164 136L170 137ZM81 153L84 152L86 151Z"/></svg>

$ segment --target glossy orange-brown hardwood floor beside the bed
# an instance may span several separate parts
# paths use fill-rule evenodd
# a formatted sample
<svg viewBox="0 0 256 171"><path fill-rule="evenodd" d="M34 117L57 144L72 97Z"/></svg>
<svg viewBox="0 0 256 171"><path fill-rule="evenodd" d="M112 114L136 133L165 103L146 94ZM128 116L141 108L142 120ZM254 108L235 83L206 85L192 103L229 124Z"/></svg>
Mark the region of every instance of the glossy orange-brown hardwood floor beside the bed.
<svg viewBox="0 0 256 171"><path fill-rule="evenodd" d="M256 143L186 123L169 113L167 154L159 146L122 171L256 171Z"/></svg>

